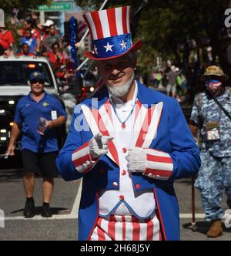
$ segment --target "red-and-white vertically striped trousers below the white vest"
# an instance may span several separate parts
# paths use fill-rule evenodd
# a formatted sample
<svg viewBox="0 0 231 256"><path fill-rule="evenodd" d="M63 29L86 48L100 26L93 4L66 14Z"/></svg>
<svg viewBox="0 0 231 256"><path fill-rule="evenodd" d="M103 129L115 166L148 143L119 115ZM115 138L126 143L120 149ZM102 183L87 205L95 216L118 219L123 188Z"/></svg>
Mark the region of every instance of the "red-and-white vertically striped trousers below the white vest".
<svg viewBox="0 0 231 256"><path fill-rule="evenodd" d="M162 241L156 214L146 220L135 216L99 217L90 241Z"/></svg>

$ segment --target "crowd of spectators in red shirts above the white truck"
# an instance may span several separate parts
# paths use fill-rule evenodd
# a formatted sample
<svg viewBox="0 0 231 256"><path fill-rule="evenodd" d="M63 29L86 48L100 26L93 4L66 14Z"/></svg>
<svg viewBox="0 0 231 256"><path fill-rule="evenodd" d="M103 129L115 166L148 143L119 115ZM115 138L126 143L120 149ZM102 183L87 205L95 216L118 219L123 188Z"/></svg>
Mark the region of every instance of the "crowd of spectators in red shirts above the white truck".
<svg viewBox="0 0 231 256"><path fill-rule="evenodd" d="M48 19L39 23L32 12L28 19L12 17L9 24L0 24L0 56L44 56L49 59L58 79L72 76L67 67L72 66L69 44L59 34L55 23Z"/></svg>

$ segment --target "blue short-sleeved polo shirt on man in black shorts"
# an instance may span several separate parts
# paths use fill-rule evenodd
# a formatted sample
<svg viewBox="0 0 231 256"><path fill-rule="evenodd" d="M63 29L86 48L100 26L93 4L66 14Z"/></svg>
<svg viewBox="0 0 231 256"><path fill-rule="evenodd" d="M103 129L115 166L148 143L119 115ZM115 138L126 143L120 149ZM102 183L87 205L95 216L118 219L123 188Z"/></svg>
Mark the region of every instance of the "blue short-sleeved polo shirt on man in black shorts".
<svg viewBox="0 0 231 256"><path fill-rule="evenodd" d="M55 112L56 111L56 112ZM54 120L54 113L57 116L65 116L65 110L59 99L48 93L40 99L39 103L32 99L30 93L18 100L15 110L14 122L22 126L22 147L35 153L49 153L59 150L57 129L45 130L41 135L37 132L39 118Z"/></svg>

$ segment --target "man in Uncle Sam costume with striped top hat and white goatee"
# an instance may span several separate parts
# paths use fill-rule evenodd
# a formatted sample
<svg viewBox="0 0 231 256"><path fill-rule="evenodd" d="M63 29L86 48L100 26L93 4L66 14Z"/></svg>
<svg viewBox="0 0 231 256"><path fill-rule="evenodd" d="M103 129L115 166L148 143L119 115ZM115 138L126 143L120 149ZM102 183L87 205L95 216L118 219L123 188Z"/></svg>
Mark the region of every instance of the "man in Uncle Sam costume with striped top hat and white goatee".
<svg viewBox="0 0 231 256"><path fill-rule="evenodd" d="M75 106L56 160L65 180L82 178L79 240L179 240L173 180L199 170L199 150L176 99L134 79L128 6L85 13L105 86Z"/></svg>

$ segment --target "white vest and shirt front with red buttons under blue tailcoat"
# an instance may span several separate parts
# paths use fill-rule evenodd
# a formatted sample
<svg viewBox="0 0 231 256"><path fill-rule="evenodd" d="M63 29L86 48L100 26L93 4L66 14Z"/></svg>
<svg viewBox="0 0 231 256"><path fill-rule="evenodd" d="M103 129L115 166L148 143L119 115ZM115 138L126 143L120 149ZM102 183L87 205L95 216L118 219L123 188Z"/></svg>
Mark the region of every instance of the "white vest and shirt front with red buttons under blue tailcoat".
<svg viewBox="0 0 231 256"><path fill-rule="evenodd" d="M120 120L124 121L131 113L131 110L136 103L137 85L134 98L122 105L119 99L113 98L113 103L121 104L120 107L116 106L116 113ZM112 98L111 98L112 99ZM115 104L116 104L115 103ZM115 105L114 105L115 106ZM111 106L112 107L112 106ZM139 218L150 217L156 208L156 202L152 190L142 190L141 192L135 192L132 187L132 179L127 172L127 160L126 153L123 152L123 148L129 149L134 142L133 139L133 126L135 121L135 109L129 120L126 121L126 128L122 129L122 123L120 123L115 111L112 108L112 120L115 132L115 147L119 156L119 190L100 190L99 191L99 215L101 217L115 215L136 215ZM126 170L126 172L124 171Z"/></svg>

